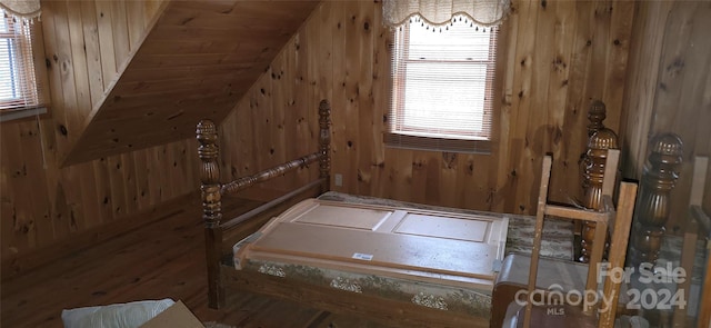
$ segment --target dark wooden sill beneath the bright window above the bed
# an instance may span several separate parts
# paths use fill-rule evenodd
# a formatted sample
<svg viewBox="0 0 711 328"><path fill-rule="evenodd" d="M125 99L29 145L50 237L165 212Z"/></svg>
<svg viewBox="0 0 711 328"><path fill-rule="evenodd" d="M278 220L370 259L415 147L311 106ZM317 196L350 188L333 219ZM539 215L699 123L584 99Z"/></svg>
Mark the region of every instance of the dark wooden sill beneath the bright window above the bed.
<svg viewBox="0 0 711 328"><path fill-rule="evenodd" d="M399 133L384 133L383 142L385 143L387 147L391 147L391 148L462 152L462 153L481 153L481 155L491 153L490 140L459 140L459 139L444 139L444 138L432 138L432 137L418 137L418 136L399 135Z"/></svg>

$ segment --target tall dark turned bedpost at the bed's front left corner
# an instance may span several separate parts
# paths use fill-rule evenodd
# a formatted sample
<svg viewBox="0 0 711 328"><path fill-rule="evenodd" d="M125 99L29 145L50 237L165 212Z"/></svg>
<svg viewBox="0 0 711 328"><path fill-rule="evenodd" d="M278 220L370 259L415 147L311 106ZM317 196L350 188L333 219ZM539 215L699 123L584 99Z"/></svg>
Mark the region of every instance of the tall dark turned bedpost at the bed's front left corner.
<svg viewBox="0 0 711 328"><path fill-rule="evenodd" d="M198 155L202 161L200 181L202 191L202 219L204 220L206 259L208 264L208 306L220 308L224 305L224 289L220 279L220 252L222 245L220 167L218 131L210 120L202 120L196 129Z"/></svg>

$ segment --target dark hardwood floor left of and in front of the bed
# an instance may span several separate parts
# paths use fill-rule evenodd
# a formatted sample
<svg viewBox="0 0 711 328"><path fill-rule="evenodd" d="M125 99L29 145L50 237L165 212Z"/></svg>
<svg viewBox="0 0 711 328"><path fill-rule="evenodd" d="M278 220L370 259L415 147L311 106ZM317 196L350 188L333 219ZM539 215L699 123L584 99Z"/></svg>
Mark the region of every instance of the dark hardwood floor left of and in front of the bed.
<svg viewBox="0 0 711 328"><path fill-rule="evenodd" d="M207 307L199 199L160 208L153 223L2 281L1 327L62 327L61 310L146 299L181 299L202 321L234 327L382 327L298 304L230 292L226 309ZM227 215L259 206L226 200Z"/></svg>

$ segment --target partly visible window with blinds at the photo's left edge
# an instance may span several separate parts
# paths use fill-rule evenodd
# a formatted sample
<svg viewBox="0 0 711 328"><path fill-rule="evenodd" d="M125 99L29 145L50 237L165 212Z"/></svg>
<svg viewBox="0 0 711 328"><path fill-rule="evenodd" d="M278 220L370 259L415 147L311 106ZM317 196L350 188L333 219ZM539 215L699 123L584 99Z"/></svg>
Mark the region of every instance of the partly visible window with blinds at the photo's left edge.
<svg viewBox="0 0 711 328"><path fill-rule="evenodd" d="M43 112L32 58L34 24L0 17L0 115L2 120ZM38 111L39 110L39 111ZM24 112L24 115L20 115Z"/></svg>

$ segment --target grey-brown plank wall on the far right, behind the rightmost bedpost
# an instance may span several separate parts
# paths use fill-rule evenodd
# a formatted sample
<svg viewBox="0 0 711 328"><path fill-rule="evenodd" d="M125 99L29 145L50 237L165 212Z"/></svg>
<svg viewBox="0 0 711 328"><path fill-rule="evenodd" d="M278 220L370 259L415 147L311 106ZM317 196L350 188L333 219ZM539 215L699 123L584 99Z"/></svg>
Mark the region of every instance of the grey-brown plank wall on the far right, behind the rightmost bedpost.
<svg viewBox="0 0 711 328"><path fill-rule="evenodd" d="M674 132L683 141L683 166L671 192L668 231L687 218L694 156L711 156L711 1L642 1L634 22L624 97L624 175L640 179L649 139ZM708 168L711 170L711 166ZM703 208L711 212L711 178Z"/></svg>

